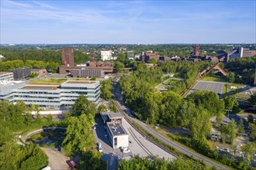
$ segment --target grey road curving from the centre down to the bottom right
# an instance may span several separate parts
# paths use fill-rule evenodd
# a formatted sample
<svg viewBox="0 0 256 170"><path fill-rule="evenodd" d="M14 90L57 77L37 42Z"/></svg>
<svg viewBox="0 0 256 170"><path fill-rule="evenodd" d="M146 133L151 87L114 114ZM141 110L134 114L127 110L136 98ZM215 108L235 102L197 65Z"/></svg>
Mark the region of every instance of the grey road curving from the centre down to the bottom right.
<svg viewBox="0 0 256 170"><path fill-rule="evenodd" d="M119 78L116 78L114 80L118 81ZM128 116L129 116L128 118L130 120L135 121L137 124L140 125L141 128L144 128L145 131L149 132L150 134L153 134L160 141L164 142L167 145L170 145L171 147L175 148L176 150L182 152L185 155L188 155L189 157L192 156L195 159L202 160L203 162L205 162L206 164L208 164L210 166L215 166L216 169L229 169L229 168L227 168L223 165L220 165L219 163L213 162L209 158L206 158L206 157L200 155L199 153L196 153L194 151L190 151L189 149L182 147L182 145L178 145L174 141L171 141L168 138L165 138L163 135L159 134L157 131L154 131L152 128L150 128L149 125L145 124L142 121L137 120L136 118L133 118L133 115L131 114L129 108L124 105L122 94L119 93L119 88L116 88L116 93L115 94L116 94L116 99L117 99L116 104L118 104L119 107L124 112L126 112L126 114L128 114Z"/></svg>

